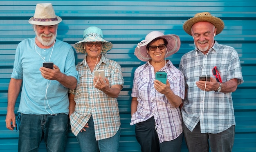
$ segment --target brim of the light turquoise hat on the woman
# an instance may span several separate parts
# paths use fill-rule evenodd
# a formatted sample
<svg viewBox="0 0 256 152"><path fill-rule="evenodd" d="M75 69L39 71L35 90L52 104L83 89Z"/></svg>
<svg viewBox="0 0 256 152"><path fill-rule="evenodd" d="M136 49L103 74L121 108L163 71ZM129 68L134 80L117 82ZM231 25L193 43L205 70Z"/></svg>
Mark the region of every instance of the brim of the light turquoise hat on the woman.
<svg viewBox="0 0 256 152"><path fill-rule="evenodd" d="M77 52L80 53L85 53L85 50L83 48L83 42L104 42L103 44L103 48L102 48L102 53L106 53L108 51L111 50L111 48L113 47L113 44L111 42L108 42L106 40L104 40L103 38L100 37L86 37L85 39L76 42L76 44L74 44L74 48L76 49Z"/></svg>

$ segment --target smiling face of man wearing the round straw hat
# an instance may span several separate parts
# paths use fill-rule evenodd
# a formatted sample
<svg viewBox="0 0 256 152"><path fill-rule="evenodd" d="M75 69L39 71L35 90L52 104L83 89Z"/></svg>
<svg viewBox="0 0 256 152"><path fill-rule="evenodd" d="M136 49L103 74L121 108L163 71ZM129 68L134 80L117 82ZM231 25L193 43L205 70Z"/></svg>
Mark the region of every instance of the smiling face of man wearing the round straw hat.
<svg viewBox="0 0 256 152"><path fill-rule="evenodd" d="M191 34L194 38L195 46L204 54L214 44L214 34L216 35L217 29L209 22L198 22L193 24Z"/></svg>

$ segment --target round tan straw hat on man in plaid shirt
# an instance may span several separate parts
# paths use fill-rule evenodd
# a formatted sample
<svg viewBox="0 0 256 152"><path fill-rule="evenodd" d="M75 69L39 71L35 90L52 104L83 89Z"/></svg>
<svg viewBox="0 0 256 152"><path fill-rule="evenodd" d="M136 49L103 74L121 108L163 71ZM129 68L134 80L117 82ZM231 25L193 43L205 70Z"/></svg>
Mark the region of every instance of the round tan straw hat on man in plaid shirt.
<svg viewBox="0 0 256 152"><path fill-rule="evenodd" d="M202 12L195 14L193 18L190 18L183 24L184 31L191 35L191 28L193 24L197 22L210 22L213 24L217 28L216 35L219 34L225 26L224 22L220 18L212 16L209 12Z"/></svg>

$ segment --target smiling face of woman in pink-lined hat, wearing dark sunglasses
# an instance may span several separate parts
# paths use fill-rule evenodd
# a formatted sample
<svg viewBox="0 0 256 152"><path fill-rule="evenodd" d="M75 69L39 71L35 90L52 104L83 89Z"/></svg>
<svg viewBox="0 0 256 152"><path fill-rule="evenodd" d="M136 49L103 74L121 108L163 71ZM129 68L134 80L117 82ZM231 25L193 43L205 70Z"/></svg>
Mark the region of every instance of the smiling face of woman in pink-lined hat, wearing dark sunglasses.
<svg viewBox="0 0 256 152"><path fill-rule="evenodd" d="M162 38L150 42L148 46L159 46L161 44L165 44ZM166 47L162 50L157 47L155 51L151 51L150 48L148 48L148 54L152 58L152 62L163 62L166 55Z"/></svg>

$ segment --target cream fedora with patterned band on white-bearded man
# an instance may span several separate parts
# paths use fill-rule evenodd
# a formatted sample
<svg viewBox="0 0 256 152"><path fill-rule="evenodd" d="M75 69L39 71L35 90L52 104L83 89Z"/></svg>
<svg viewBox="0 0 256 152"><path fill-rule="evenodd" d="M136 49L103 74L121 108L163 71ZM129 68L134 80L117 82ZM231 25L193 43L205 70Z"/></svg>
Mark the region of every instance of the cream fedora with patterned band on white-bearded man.
<svg viewBox="0 0 256 152"><path fill-rule="evenodd" d="M62 19L55 15L51 3L36 4L35 14L29 19L30 24L50 26L60 23Z"/></svg>

